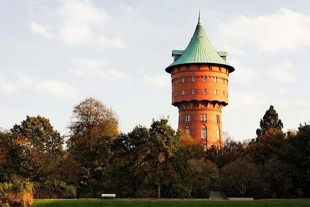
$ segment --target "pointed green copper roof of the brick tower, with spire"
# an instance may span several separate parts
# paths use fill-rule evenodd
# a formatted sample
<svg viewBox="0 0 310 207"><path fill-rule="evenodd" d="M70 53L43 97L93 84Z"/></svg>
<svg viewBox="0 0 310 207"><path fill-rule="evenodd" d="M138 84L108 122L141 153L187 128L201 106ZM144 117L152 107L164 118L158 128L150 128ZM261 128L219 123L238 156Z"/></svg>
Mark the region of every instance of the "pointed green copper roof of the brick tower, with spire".
<svg viewBox="0 0 310 207"><path fill-rule="evenodd" d="M221 52L221 56L227 56L227 52ZM225 54L223 54L225 53ZM205 30L201 24L200 11L198 24L193 35L192 40L189 42L188 46L184 51L173 50L173 55L181 55L176 61L169 65L165 70L167 73L171 73L171 66L188 64L188 63L215 63L221 65L227 65L228 71L232 72L235 69L229 65L228 62L224 61L223 58L215 51L212 47Z"/></svg>

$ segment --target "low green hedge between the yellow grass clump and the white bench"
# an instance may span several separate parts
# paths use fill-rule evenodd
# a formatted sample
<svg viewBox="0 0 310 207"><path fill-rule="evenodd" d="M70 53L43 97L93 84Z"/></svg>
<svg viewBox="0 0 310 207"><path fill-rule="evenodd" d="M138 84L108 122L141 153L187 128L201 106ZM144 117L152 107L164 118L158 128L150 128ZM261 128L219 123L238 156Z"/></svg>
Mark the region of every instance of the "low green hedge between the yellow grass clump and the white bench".
<svg viewBox="0 0 310 207"><path fill-rule="evenodd" d="M35 183L35 198L74 199L77 198L77 187L67 185L64 181L55 178L45 178Z"/></svg>

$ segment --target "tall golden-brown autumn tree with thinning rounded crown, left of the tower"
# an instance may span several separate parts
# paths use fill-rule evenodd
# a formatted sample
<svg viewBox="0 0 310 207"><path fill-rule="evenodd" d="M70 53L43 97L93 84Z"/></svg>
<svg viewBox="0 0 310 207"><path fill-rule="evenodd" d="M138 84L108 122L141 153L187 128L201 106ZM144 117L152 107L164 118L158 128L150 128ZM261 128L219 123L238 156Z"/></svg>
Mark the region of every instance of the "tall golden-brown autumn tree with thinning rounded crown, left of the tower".
<svg viewBox="0 0 310 207"><path fill-rule="evenodd" d="M103 166L110 154L109 144L118 135L119 118L101 101L86 98L73 107L68 125L69 153L85 167Z"/></svg>

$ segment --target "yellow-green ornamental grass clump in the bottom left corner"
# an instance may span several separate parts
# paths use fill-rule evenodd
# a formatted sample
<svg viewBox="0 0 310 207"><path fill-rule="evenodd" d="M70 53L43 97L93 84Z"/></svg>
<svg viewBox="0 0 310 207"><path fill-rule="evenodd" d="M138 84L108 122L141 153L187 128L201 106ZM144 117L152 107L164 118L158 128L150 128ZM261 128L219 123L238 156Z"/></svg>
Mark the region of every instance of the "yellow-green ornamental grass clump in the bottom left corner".
<svg viewBox="0 0 310 207"><path fill-rule="evenodd" d="M32 182L0 183L2 206L30 206L33 203L33 192Z"/></svg>

